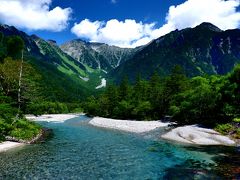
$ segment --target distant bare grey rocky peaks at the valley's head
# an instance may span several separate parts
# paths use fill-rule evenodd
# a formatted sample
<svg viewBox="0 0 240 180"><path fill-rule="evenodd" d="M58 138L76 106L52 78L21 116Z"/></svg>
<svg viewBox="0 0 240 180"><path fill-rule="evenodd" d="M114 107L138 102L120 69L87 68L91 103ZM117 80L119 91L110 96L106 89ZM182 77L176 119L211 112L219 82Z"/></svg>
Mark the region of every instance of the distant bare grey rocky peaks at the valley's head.
<svg viewBox="0 0 240 180"><path fill-rule="evenodd" d="M103 43L90 43L80 39L66 42L60 48L75 60L105 72L115 69L132 58L138 50L137 48L120 48Z"/></svg>

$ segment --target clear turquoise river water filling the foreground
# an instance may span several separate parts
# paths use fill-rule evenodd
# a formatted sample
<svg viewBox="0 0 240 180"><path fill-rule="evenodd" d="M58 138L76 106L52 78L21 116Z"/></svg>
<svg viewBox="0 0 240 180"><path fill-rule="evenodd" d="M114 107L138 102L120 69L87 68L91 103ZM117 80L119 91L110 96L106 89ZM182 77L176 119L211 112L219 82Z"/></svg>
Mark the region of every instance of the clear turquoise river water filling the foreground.
<svg viewBox="0 0 240 180"><path fill-rule="evenodd" d="M158 132L136 135L87 122L81 116L42 123L54 137L1 153L0 179L221 179L232 177L231 168L239 165L229 160L238 153L234 148L184 147L158 140ZM226 158L230 165L223 169Z"/></svg>

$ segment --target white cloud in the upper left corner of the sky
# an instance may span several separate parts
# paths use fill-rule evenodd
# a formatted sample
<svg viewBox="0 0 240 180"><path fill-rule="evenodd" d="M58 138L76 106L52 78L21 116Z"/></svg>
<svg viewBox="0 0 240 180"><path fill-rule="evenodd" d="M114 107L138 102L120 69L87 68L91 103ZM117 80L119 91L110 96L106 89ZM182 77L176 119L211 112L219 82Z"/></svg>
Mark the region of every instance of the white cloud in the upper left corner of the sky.
<svg viewBox="0 0 240 180"><path fill-rule="evenodd" d="M64 30L71 8L50 9L52 0L0 0L0 22L29 30Z"/></svg>

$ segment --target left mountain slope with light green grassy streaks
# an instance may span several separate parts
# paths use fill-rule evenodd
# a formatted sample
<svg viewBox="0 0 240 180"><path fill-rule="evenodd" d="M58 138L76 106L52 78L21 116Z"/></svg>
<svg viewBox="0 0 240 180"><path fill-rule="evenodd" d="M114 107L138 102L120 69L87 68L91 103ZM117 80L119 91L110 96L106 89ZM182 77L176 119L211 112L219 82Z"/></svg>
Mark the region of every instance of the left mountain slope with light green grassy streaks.
<svg viewBox="0 0 240 180"><path fill-rule="evenodd" d="M13 26L0 25L5 37L17 35L25 43L24 61L42 77L41 86L49 101L79 102L95 93L101 72L64 53L53 40L29 36Z"/></svg>

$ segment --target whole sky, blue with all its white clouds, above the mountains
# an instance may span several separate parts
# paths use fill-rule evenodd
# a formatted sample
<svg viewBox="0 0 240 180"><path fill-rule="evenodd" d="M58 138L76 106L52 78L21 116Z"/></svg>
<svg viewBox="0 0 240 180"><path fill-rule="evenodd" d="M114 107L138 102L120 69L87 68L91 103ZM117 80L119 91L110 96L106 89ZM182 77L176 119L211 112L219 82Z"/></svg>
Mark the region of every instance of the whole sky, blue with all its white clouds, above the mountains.
<svg viewBox="0 0 240 180"><path fill-rule="evenodd" d="M0 0L0 22L61 44L81 38L136 47L211 22L239 28L239 0Z"/></svg>

